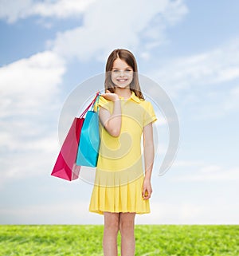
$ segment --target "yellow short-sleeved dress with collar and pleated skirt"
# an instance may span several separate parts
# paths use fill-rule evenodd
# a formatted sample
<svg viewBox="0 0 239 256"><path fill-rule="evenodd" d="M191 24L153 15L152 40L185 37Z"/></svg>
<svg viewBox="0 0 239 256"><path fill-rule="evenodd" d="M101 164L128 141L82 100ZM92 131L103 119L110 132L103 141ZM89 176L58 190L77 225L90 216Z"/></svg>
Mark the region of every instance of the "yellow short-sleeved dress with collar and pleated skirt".
<svg viewBox="0 0 239 256"><path fill-rule="evenodd" d="M133 92L127 100L120 98L120 102L120 135L111 136L100 124L99 158L89 211L149 213L149 200L142 198L141 137L143 127L157 118L151 102L140 100ZM112 101L100 96L98 104L112 113Z"/></svg>

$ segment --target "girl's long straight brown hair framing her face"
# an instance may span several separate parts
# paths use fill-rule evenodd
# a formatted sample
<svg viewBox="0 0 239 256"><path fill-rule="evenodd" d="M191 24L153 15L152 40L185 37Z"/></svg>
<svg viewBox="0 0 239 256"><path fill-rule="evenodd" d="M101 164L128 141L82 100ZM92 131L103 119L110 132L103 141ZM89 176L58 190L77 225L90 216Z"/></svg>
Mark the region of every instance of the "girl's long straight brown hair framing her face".
<svg viewBox="0 0 239 256"><path fill-rule="evenodd" d="M125 61L133 69L133 80L130 84L130 89L138 96L139 99L144 100L143 93L141 92L139 85L139 76L138 76L138 67L134 55L127 49L115 49L108 57L108 61L105 67L105 81L104 88L109 90L111 93L115 92L115 85L112 82L111 71L113 68L113 63L116 59L119 58L122 61Z"/></svg>

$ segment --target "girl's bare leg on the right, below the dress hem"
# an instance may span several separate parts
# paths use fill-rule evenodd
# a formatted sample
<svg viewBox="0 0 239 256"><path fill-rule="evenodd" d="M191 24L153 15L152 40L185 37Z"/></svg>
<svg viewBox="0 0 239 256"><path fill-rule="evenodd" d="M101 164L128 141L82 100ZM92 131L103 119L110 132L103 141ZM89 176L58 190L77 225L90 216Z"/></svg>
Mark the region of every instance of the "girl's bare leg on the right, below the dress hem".
<svg viewBox="0 0 239 256"><path fill-rule="evenodd" d="M135 255L135 213L119 214L121 256Z"/></svg>

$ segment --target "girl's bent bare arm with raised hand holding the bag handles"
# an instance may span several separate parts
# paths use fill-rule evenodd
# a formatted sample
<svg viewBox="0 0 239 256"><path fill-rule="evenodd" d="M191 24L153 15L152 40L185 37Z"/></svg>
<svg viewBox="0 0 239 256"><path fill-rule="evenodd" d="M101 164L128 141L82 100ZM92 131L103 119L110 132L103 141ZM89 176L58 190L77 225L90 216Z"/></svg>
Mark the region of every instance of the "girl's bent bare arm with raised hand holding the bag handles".
<svg viewBox="0 0 239 256"><path fill-rule="evenodd" d="M110 93L109 91L101 94L101 96L104 96L106 100L114 102L114 110L111 114L107 109L100 108L100 121L111 136L117 137L119 136L121 129L121 104L119 96L116 93Z"/></svg>

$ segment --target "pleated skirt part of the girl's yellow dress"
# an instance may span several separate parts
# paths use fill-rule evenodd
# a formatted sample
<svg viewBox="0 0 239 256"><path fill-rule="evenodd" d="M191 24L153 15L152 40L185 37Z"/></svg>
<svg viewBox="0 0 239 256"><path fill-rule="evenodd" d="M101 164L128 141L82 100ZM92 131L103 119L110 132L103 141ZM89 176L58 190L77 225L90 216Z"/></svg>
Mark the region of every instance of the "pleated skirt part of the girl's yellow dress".
<svg viewBox="0 0 239 256"><path fill-rule="evenodd" d="M92 191L89 211L103 214L108 212L134 212L145 214L150 212L149 200L142 197L143 175L131 180L125 173L96 171L96 181ZM107 180L102 181L107 176ZM120 177L123 176L123 177ZM121 178L121 179L120 179ZM116 183L114 186L113 184Z"/></svg>

